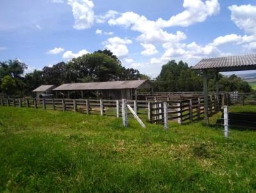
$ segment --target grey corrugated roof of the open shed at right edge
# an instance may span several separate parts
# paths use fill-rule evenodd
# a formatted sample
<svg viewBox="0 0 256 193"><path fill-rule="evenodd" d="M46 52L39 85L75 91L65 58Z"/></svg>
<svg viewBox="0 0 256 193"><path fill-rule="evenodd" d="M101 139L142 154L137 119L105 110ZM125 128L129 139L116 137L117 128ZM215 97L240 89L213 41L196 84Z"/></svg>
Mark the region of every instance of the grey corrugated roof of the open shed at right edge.
<svg viewBox="0 0 256 193"><path fill-rule="evenodd" d="M202 59L193 69L207 69L207 68L229 68L239 66L253 66L256 65L256 54L245 56L227 56L221 58Z"/></svg>

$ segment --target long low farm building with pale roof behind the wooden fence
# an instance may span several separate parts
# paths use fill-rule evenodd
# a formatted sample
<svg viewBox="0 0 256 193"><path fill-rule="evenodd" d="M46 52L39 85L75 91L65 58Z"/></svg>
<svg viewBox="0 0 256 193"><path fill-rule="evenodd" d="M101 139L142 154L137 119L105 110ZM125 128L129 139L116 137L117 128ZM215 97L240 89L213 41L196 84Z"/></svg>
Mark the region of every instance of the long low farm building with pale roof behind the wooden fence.
<svg viewBox="0 0 256 193"><path fill-rule="evenodd" d="M152 89L148 80L136 81L111 81L111 82L86 82L62 84L53 91L56 96L62 95L65 98L104 98L137 100L139 89ZM78 96L77 96L78 95Z"/></svg>

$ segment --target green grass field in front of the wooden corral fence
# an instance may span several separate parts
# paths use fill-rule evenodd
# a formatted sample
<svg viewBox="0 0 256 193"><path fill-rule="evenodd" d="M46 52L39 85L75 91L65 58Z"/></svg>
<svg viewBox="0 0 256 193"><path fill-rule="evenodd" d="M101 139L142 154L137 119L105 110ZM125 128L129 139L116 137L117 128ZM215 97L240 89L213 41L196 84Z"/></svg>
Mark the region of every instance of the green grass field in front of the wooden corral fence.
<svg viewBox="0 0 256 193"><path fill-rule="evenodd" d="M256 132L146 125L0 107L0 192L256 191Z"/></svg>

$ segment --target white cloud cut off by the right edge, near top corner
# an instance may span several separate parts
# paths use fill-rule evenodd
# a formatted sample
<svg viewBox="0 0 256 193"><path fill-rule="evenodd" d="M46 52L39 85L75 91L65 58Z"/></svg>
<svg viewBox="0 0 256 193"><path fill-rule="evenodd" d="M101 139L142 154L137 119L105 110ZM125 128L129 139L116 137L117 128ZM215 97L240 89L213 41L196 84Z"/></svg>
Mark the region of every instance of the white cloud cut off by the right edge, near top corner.
<svg viewBox="0 0 256 193"><path fill-rule="evenodd" d="M256 35L256 6L232 5L228 9L231 11L231 19L236 26L243 29L246 33Z"/></svg>

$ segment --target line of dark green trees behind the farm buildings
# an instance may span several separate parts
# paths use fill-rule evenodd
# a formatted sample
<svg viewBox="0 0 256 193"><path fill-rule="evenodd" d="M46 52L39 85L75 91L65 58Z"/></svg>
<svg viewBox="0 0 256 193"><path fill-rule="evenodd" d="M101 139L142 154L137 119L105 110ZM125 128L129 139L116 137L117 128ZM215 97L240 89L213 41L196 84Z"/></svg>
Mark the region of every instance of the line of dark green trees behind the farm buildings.
<svg viewBox="0 0 256 193"><path fill-rule="evenodd" d="M42 70L24 74L27 65L18 59L0 62L0 91L9 96L32 96L32 90L42 84L61 85L71 82L102 82L149 79L134 68L125 68L110 50L84 54L67 63L45 66ZM231 75L219 77L220 91L252 91L250 85ZM156 80L151 80L154 91L202 91L200 72L183 61L169 61L162 66ZM214 78L209 77L209 90L214 91Z"/></svg>

